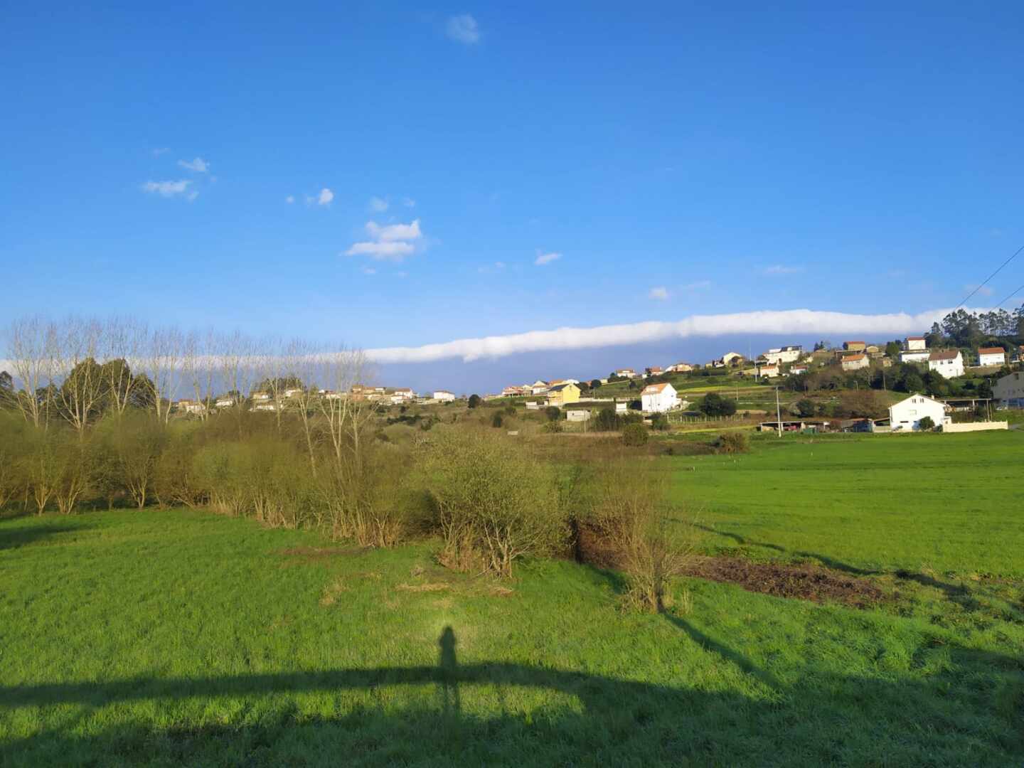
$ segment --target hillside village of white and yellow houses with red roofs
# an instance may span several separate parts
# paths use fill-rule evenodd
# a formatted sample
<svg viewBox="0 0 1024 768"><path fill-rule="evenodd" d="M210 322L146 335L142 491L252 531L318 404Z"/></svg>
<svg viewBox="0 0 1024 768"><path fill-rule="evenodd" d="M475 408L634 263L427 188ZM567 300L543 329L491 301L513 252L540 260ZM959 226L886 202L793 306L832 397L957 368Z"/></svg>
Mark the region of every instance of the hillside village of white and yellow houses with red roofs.
<svg viewBox="0 0 1024 768"><path fill-rule="evenodd" d="M469 403L519 404L525 411L554 413L568 424L587 423L603 410L616 417L637 415L653 425L705 418L760 418L763 430L906 431L938 427L963 431L954 421L970 413L979 421L993 422L991 412L1024 407L1024 347L1013 343L995 345L991 340L975 346L943 343L941 334L907 336L872 343L847 340L839 345L821 341L812 349L800 344L772 347L754 358L726 351L706 362L676 361L645 369L620 368L606 377L587 379L549 378L510 384L501 392L477 395L435 389L415 392L410 387L355 384L347 391L307 391L302 382L265 380L248 397L229 393L212 402L180 399L174 403L180 415L203 415L212 410L245 407L253 411L278 412L310 397L326 400L366 401L379 408ZM948 340L946 340L948 341ZM712 390L732 388L733 403L708 407ZM862 400L868 393L905 393L898 401L865 408L833 408L815 402L815 394L854 390ZM863 391L862 391L863 390ZM772 392L775 408L771 408ZM796 398L803 392L805 397ZM689 396L687 396L689 395ZM702 395L702 397L699 397ZM717 395L723 398L721 394ZM700 398L697 410L690 410ZM714 398L711 398L714 400ZM833 398L835 399L835 397ZM842 398L841 398L842 399ZM890 398L891 399L891 398ZM741 408L752 400L761 408ZM785 408L782 408L783 402ZM985 409L982 414L982 408ZM552 411L554 409L555 411ZM872 410L873 409L873 410ZM845 418L836 418L845 417ZM972 427L977 429L978 427Z"/></svg>

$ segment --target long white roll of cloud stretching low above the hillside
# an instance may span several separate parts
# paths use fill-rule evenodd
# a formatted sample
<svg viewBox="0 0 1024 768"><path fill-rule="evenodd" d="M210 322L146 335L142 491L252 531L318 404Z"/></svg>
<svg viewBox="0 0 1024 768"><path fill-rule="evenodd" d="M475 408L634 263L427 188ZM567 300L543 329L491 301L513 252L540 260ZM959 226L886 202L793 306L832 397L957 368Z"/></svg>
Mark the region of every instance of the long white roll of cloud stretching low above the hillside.
<svg viewBox="0 0 1024 768"><path fill-rule="evenodd" d="M504 357L520 352L546 352L563 349L587 349L626 344L644 344L667 339L692 336L726 336L729 334L792 334L816 335L920 334L949 309L931 309L920 314L851 314L821 312L813 309L737 312L734 314L695 314L681 321L631 323L595 328L558 328L553 331L527 331L507 336L484 336L476 339L456 339L442 344L418 347L384 347L368 349L366 354L376 362L432 362L461 357L469 362L482 357Z"/></svg>

